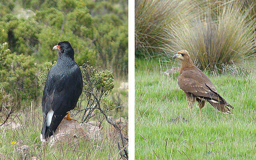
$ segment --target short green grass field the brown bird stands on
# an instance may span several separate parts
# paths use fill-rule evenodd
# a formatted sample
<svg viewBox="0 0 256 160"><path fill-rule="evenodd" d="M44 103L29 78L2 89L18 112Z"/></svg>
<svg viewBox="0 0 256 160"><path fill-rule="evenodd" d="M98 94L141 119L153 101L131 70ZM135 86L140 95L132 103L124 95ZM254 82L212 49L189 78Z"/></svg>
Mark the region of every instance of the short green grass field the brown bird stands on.
<svg viewBox="0 0 256 160"><path fill-rule="evenodd" d="M174 66L180 63L175 62ZM243 65L256 66L255 60ZM256 73L228 76L206 73L218 92L234 106L234 115L209 103L190 113L177 75L163 74L173 64L135 61L135 158L138 160L256 159ZM174 123L172 118L180 117ZM189 122L183 122L182 118Z"/></svg>

